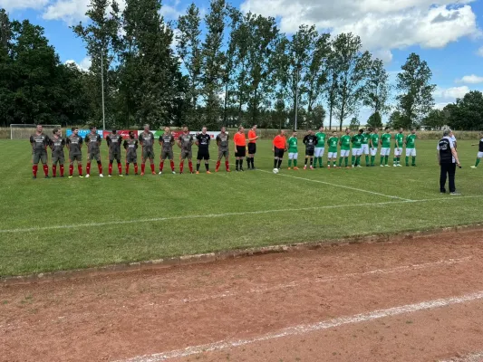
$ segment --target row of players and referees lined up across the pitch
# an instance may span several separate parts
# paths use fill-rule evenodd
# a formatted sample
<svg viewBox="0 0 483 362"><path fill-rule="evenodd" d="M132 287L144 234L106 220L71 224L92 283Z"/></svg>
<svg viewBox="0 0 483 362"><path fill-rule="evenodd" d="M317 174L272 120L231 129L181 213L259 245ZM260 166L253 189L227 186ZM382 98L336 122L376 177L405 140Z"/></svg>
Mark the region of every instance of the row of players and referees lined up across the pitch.
<svg viewBox="0 0 483 362"><path fill-rule="evenodd" d="M42 162L43 173L46 178L49 177L48 167L48 153L47 149L51 148L52 154L52 176L64 176L64 162L65 154L64 148L68 151L69 162L69 177L73 176L74 166L77 165L78 176L90 177L91 165L95 161L98 167L99 176L102 174L101 163L101 142L102 138L97 133L95 127L91 128L91 132L82 138L79 136L79 129L72 128L72 135L63 138L61 136L61 129L53 129L53 136L49 137L43 133L42 126L37 126L36 132L30 138L33 152L33 177L36 178L38 171L38 164ZM483 135L482 135L483 137ZM256 155L256 126L248 131L246 137L245 129L240 127L233 137L235 146L236 169L235 171L244 171L244 160L248 169L256 169L255 155ZM324 154L325 148L327 152L327 168L341 168L341 167L362 167L362 157L365 157L366 167L376 166L376 157L379 153L380 167L390 167L389 158L391 156L391 149L393 149L392 166L401 167L401 157L403 148L405 148L405 165L407 167L416 167L416 130L411 129L411 133L404 135L403 129L392 137L389 129L384 129L380 135L378 129L360 129L358 132L352 134L351 129L345 129L342 135L338 132L325 133L324 128L321 127L317 133L309 129L304 136L302 143L304 144L304 169L324 168ZM456 139L454 139L456 142ZM155 171L155 136L150 131L150 126L145 125L144 130L140 132L139 138L135 137L134 131L130 131L129 138L122 139L121 135L117 134L116 130L106 137L107 147L109 149L109 173L112 176L113 163L116 161L119 176L129 176L130 167L134 168L134 174L138 175L138 150L140 149L140 175L144 176L146 173L146 163L150 161L150 173L156 175ZM207 133L207 129L203 128L198 135L190 134L187 127L183 127L182 133L177 139L174 138L169 127L164 129L164 134L158 139L160 147L160 162L159 175L164 172L164 164L169 160L169 167L172 174L176 174L174 162L175 146L180 150L179 154L179 173L185 172L185 162L188 162L188 169L190 174L199 174L201 164L205 164L206 173L210 174L209 170L209 146L211 137ZM217 164L215 171L218 172L221 162L225 161L225 168L227 172L231 172L229 164L229 144L230 137L225 128L220 129L216 138L217 143ZM86 144L87 148L87 164L85 167L85 175L82 168L82 148ZM298 138L297 131L292 132L292 136L286 139L286 131L281 130L280 133L273 139L274 152L274 173L280 171L285 153L288 153L288 169L298 170ZM479 158L483 157L482 148L483 138L479 143L477 164ZM196 172L193 167L193 146L198 147L198 154L196 157ZM124 151L121 152L121 149ZM125 156L124 173L122 172L121 157ZM351 159L349 158L351 157ZM410 163L411 161L411 163ZM59 171L59 175L57 175Z"/></svg>

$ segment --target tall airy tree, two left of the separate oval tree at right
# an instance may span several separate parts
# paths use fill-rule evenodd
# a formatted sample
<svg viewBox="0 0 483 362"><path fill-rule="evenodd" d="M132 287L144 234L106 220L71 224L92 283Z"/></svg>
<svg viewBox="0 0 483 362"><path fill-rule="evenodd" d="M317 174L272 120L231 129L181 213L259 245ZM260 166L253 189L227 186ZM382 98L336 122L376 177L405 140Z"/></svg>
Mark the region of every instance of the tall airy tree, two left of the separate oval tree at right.
<svg viewBox="0 0 483 362"><path fill-rule="evenodd" d="M333 56L339 67L335 113L342 130L344 119L356 115L363 100L365 81L371 67L371 54L362 52L359 36L341 33L333 40Z"/></svg>

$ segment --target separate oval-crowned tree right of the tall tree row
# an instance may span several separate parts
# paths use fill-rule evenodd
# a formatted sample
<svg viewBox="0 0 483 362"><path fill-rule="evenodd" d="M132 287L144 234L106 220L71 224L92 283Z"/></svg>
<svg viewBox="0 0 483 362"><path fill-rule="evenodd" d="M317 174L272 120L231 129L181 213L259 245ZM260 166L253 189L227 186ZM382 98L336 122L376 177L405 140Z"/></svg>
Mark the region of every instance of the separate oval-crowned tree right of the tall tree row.
<svg viewBox="0 0 483 362"><path fill-rule="evenodd" d="M420 124L434 106L432 92L436 88L431 84L432 72L428 63L420 60L414 52L410 54L406 63L398 73L396 89L397 108L401 112L401 127L409 129Z"/></svg>

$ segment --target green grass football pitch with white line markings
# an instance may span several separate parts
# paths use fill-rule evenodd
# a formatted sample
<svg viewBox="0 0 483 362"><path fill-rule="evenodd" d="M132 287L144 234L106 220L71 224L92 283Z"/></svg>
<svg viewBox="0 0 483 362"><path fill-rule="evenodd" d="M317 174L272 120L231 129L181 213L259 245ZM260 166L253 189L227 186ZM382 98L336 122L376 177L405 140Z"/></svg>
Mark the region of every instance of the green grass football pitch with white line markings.
<svg viewBox="0 0 483 362"><path fill-rule="evenodd" d="M417 147L418 167L295 172L285 169L285 159L281 174L273 175L270 142L263 141L256 155L256 167L262 171L101 179L94 166L90 179L33 180L28 143L0 141L4 155L0 164L0 275L481 222L482 199L468 197L482 195L483 167L469 168L477 148L471 148L469 141L459 142L463 169L457 171L457 187L465 196L459 198L439 193L435 142L420 141ZM214 146L211 155L217 155ZM158 164L157 159L156 169ZM178 169L178 160L176 164ZM214 169L213 162L210 167ZM430 201L404 203L384 195ZM309 207L313 209L300 210ZM269 210L279 211L213 216ZM198 217L207 214L211 216ZM146 221L159 218L168 220ZM5 232L76 224L92 225Z"/></svg>

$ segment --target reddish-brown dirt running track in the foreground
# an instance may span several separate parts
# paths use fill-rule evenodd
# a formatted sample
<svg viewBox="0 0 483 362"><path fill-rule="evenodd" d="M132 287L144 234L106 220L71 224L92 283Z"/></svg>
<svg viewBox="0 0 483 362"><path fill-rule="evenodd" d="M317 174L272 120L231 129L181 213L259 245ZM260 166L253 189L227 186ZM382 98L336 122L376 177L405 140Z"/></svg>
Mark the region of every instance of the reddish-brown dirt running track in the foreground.
<svg viewBox="0 0 483 362"><path fill-rule="evenodd" d="M482 257L468 231L4 287L0 361L447 360L483 350L483 298L351 318L482 292Z"/></svg>

